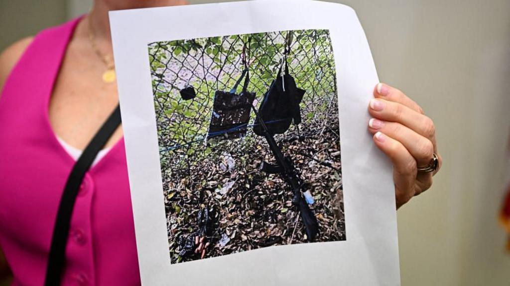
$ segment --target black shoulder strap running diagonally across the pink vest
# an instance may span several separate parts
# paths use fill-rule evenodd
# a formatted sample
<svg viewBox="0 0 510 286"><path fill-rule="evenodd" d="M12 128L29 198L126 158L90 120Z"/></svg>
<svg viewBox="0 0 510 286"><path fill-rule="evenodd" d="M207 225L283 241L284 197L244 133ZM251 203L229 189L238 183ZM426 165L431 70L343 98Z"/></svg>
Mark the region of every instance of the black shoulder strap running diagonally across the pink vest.
<svg viewBox="0 0 510 286"><path fill-rule="evenodd" d="M78 195L85 173L94 162L97 153L103 149L108 139L120 125L120 108L117 105L108 120L101 126L89 145L85 148L78 161L74 164L67 179L64 193L60 199L57 220L53 230L52 245L49 249L48 264L46 268L45 285L60 285L62 270L65 265L65 248L69 236L74 202Z"/></svg>

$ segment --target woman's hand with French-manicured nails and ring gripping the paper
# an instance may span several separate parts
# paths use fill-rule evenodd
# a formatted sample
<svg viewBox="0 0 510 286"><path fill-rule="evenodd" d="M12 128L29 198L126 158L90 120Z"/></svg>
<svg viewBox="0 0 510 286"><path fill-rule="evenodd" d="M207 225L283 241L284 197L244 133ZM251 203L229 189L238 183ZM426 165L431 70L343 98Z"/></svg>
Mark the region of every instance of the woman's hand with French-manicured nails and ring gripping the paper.
<svg viewBox="0 0 510 286"><path fill-rule="evenodd" d="M368 130L374 134L375 145L393 163L393 180L397 209L432 185L443 160L436 146L436 127L423 109L401 91L379 83L375 99L369 104ZM433 154L438 167L430 172L419 171L431 164Z"/></svg>

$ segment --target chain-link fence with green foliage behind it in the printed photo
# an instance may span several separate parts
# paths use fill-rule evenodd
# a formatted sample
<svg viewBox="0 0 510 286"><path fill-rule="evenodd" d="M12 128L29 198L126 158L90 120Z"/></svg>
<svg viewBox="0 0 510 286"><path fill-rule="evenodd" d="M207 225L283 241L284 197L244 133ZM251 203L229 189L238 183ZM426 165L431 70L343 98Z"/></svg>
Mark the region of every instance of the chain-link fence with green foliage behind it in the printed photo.
<svg viewBox="0 0 510 286"><path fill-rule="evenodd" d="M289 37L289 34L292 37ZM306 90L301 116L323 132L337 104L333 49L327 30L260 33L148 45L158 122L161 163L182 164L193 146L204 144L212 116L214 92L230 90L241 76L243 47L249 41L248 91L261 102L284 58L286 39L290 74ZM180 91L193 87L196 97L184 100ZM254 116L252 115L251 123ZM250 126L248 126L249 129ZM290 130L286 136L293 136ZM303 134L301 134L303 135Z"/></svg>

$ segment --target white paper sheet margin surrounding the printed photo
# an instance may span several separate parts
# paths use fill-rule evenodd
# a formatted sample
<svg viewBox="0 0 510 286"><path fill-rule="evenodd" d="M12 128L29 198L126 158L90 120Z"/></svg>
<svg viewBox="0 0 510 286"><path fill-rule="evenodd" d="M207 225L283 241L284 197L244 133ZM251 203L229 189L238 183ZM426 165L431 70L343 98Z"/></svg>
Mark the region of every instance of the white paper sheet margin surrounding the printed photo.
<svg viewBox="0 0 510 286"><path fill-rule="evenodd" d="M142 284L400 284L392 169L367 131L367 106L378 78L351 8L316 1L261 0L113 11L110 23ZM334 50L345 240L275 245L171 264L169 242L174 239L167 232L164 194L168 190L160 164L164 146L158 142L148 45L301 30L328 31ZM258 96L256 103L262 100ZM289 212L295 211L292 208ZM317 208L316 213L320 211ZM278 218L285 218L283 214Z"/></svg>

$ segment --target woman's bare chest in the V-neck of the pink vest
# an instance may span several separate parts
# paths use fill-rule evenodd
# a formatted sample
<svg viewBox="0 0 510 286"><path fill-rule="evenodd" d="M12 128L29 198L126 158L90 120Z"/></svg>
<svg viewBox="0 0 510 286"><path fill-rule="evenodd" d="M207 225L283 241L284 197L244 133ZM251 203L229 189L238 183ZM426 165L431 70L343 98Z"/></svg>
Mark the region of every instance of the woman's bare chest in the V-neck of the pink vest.
<svg viewBox="0 0 510 286"><path fill-rule="evenodd" d="M105 66L84 40L71 41L49 100L49 120L57 136L83 150L118 104L117 85L101 79ZM122 137L119 128L107 142Z"/></svg>

